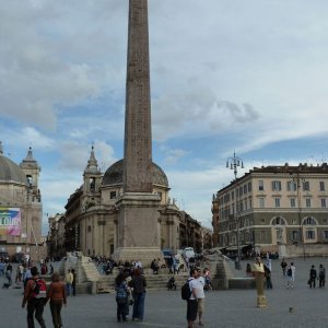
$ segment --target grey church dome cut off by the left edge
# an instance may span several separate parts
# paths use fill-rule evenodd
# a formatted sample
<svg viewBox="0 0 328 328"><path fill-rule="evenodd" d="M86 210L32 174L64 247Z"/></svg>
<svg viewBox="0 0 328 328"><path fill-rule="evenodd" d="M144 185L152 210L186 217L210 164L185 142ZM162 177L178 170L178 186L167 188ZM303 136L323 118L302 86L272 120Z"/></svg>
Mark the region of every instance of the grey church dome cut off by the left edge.
<svg viewBox="0 0 328 328"><path fill-rule="evenodd" d="M0 154L0 183L3 181L26 185L26 176L17 164Z"/></svg>

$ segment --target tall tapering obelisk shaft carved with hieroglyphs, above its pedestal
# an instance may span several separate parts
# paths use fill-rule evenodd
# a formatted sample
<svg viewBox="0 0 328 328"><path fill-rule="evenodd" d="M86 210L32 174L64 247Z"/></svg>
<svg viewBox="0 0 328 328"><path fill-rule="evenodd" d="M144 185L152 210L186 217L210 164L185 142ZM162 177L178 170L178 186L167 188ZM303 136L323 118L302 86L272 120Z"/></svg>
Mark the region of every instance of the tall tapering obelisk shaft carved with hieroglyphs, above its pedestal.
<svg viewBox="0 0 328 328"><path fill-rule="evenodd" d="M148 1L130 0L124 192L152 192Z"/></svg>

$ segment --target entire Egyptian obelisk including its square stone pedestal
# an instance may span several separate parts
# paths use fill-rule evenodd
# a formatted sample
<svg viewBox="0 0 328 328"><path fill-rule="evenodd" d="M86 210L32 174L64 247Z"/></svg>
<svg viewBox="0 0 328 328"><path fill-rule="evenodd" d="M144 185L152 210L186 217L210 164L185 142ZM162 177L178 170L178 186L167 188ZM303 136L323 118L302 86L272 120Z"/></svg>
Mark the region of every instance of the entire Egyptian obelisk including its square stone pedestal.
<svg viewBox="0 0 328 328"><path fill-rule="evenodd" d="M161 257L160 197L152 194L148 0L129 1L124 194L117 200L116 260Z"/></svg>

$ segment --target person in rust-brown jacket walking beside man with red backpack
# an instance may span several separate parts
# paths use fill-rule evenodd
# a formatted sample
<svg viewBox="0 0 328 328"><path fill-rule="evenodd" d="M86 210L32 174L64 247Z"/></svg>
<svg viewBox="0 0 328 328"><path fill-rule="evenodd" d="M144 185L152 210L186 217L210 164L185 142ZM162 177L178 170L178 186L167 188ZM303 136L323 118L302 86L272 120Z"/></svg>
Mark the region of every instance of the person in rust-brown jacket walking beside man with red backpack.
<svg viewBox="0 0 328 328"><path fill-rule="evenodd" d="M54 272L51 274L51 283L48 288L45 303L47 303L49 300L54 328L62 328L61 308L62 305L67 306L67 298L65 284L60 280L58 272Z"/></svg>

